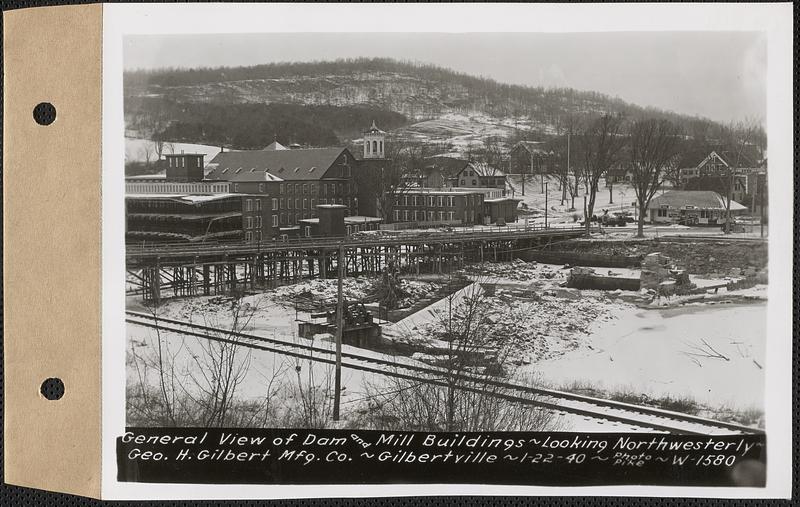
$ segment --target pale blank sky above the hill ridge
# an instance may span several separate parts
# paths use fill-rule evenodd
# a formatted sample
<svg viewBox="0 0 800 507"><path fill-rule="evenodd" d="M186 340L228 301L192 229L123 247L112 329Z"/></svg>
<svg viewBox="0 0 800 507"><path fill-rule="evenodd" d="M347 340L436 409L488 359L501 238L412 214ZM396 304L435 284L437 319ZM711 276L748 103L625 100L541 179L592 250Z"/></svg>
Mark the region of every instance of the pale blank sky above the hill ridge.
<svg viewBox="0 0 800 507"><path fill-rule="evenodd" d="M602 92L720 122L766 117L759 32L135 35L124 67L246 66L388 57L499 82Z"/></svg>

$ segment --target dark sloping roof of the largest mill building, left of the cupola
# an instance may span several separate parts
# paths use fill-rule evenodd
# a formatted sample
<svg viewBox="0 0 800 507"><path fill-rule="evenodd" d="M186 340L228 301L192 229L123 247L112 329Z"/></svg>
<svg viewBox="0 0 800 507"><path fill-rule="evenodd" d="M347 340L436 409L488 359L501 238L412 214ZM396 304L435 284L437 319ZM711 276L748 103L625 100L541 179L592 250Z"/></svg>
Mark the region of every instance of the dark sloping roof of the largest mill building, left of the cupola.
<svg viewBox="0 0 800 507"><path fill-rule="evenodd" d="M346 148L309 148L274 151L225 151L209 167L207 180L279 181L318 180ZM352 157L352 155L351 155Z"/></svg>

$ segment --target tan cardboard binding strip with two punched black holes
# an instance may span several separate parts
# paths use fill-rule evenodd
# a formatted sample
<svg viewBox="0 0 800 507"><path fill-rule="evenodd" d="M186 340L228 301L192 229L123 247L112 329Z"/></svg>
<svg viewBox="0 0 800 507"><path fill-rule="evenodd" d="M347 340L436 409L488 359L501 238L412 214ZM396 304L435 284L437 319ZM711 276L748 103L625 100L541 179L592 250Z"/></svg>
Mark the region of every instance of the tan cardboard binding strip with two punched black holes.
<svg viewBox="0 0 800 507"><path fill-rule="evenodd" d="M99 498L103 7L3 17L5 481Z"/></svg>

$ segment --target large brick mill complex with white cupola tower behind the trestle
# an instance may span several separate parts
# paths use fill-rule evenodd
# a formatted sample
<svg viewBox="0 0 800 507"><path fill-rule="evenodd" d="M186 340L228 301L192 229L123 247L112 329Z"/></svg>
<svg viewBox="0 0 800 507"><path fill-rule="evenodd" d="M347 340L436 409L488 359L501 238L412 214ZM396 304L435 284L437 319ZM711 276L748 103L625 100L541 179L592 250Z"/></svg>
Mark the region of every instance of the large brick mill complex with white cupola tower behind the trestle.
<svg viewBox="0 0 800 507"><path fill-rule="evenodd" d="M381 181L391 168L385 133L372 124L362 153L347 148L222 151L167 155L166 174L126 178L130 241L261 242L301 236L344 236L387 222L477 225L516 220L518 200L504 197L505 174L477 162L456 176L464 187L404 181L379 216ZM450 184L459 178L450 180ZM433 181L426 181L430 184Z"/></svg>

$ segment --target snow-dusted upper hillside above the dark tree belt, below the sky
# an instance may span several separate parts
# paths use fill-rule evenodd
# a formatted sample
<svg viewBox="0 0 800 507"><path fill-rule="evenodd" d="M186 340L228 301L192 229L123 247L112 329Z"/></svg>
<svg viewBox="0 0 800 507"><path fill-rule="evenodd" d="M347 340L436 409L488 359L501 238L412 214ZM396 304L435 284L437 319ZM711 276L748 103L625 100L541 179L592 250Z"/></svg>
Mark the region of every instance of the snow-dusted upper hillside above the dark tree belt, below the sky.
<svg viewBox="0 0 800 507"><path fill-rule="evenodd" d="M320 108L357 108L359 117L366 110L390 118L387 130L399 129L400 135L438 143L453 137L448 129L474 132L472 137L458 136L467 144L487 135L504 141L512 137L544 139L561 133L569 121L607 112L666 118L690 134L716 126L705 118L642 107L599 92L505 84L436 65L388 58L128 71L125 98L129 125L143 110L181 109L184 105L193 109L203 104L212 109L290 105L297 114L314 108L317 115ZM390 113L402 118L390 117ZM320 118L330 129L323 136L326 142L332 135L342 142L358 137L358 129L349 119L352 114L328 116ZM441 123L428 128L431 120L444 121L445 132ZM275 129L275 123L270 128ZM497 125L501 128L492 128ZM232 138L230 133L226 135ZM293 140L314 144L316 138Z"/></svg>

